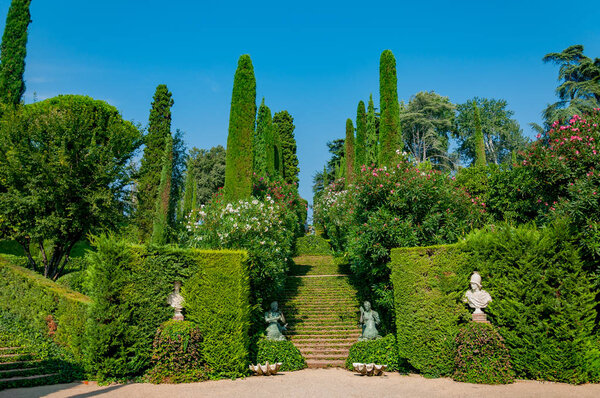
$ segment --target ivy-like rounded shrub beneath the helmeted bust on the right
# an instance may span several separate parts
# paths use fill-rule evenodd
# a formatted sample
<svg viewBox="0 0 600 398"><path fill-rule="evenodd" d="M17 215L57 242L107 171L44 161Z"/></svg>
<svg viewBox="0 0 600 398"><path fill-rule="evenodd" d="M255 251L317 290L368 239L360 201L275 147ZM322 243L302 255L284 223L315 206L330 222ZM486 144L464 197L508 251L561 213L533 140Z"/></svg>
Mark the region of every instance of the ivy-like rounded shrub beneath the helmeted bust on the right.
<svg viewBox="0 0 600 398"><path fill-rule="evenodd" d="M454 380L483 384L514 381L508 349L492 325L469 322L458 332L456 345Z"/></svg>

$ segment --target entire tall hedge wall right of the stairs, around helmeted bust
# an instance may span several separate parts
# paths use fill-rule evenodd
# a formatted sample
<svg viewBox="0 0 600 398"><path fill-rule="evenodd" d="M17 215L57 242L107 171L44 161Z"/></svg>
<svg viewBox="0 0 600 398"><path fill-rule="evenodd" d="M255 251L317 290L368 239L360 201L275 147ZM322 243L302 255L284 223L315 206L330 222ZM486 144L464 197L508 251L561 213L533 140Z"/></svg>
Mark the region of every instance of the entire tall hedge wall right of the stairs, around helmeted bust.
<svg viewBox="0 0 600 398"><path fill-rule="evenodd" d="M496 226L453 246L392 251L401 355L448 375L447 342L470 319L462 296L473 271L493 301L485 312L510 352L517 378L583 383L600 379L593 278L559 222L543 230Z"/></svg>

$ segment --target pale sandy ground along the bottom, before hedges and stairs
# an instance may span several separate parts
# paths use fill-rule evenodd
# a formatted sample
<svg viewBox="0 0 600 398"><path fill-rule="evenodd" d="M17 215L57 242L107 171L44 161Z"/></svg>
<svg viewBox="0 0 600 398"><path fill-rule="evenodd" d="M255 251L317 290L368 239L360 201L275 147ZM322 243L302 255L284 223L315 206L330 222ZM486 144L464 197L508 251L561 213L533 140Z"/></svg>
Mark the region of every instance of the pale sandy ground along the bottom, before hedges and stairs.
<svg viewBox="0 0 600 398"><path fill-rule="evenodd" d="M271 377L207 381L191 384L126 384L99 387L93 383L59 384L0 391L0 398L29 397L600 397L600 384L518 381L505 386L456 383L418 375L388 373L366 377L343 369L306 369Z"/></svg>

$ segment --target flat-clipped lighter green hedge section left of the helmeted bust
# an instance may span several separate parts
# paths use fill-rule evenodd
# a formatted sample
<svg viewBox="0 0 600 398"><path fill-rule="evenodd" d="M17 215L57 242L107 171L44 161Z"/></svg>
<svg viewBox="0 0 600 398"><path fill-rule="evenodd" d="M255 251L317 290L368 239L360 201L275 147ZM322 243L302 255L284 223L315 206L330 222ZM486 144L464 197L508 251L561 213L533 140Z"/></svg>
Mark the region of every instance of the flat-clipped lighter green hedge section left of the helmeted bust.
<svg viewBox="0 0 600 398"><path fill-rule="evenodd" d="M449 376L454 339L469 313L459 304L468 284L456 275L469 256L456 246L392 250L396 330L400 357L425 376ZM466 279L468 281L468 278Z"/></svg>

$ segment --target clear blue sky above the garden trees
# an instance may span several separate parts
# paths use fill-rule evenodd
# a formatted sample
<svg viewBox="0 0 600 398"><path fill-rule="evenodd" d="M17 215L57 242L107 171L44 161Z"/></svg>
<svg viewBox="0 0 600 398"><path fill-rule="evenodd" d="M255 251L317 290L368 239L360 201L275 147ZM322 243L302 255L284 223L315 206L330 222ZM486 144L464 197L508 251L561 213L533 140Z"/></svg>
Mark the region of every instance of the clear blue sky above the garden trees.
<svg viewBox="0 0 600 398"><path fill-rule="evenodd" d="M2 31L9 3L0 0ZM423 90L454 103L504 98L528 135L555 101L557 68L541 58L573 44L600 57L596 1L33 0L31 13L26 102L89 95L145 126L165 83L190 148L226 145L237 59L250 54L257 103L294 116L309 201L326 142L344 136L359 100L379 102L384 49L396 56L401 100Z"/></svg>

